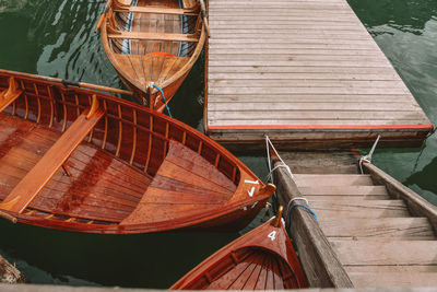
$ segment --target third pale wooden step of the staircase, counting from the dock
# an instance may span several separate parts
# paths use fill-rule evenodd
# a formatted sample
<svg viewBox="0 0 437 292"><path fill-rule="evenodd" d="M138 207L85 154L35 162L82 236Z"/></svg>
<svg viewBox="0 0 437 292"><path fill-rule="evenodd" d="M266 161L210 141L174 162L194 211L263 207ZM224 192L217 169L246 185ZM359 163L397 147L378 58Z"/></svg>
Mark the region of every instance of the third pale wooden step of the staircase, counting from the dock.
<svg viewBox="0 0 437 292"><path fill-rule="evenodd" d="M309 207L320 220L334 218L410 217L402 200L355 200L351 202L311 201Z"/></svg>

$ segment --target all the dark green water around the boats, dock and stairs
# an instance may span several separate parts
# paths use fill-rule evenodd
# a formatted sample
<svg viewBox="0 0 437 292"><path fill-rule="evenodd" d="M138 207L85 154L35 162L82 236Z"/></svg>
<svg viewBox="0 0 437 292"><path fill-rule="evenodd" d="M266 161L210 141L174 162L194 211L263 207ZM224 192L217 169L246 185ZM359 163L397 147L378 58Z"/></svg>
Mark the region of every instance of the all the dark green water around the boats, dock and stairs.
<svg viewBox="0 0 437 292"><path fill-rule="evenodd" d="M121 87L94 34L105 2L0 0L0 68ZM437 0L350 3L437 124ZM169 104L177 119L200 130L202 65L201 57ZM265 177L263 153L241 151L238 156ZM436 135L421 149L378 149L374 163L437 205ZM236 236L93 235L0 221L0 254L16 262L32 282L167 288Z"/></svg>

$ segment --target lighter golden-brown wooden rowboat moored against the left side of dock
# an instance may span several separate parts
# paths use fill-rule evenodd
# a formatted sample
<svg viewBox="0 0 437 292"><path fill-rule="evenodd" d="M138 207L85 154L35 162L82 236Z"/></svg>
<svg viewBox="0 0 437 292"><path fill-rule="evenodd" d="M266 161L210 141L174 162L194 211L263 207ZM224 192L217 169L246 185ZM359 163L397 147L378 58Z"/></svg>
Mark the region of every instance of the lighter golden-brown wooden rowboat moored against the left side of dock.
<svg viewBox="0 0 437 292"><path fill-rule="evenodd" d="M108 0L102 42L139 101L163 112L198 59L205 31L196 0Z"/></svg>

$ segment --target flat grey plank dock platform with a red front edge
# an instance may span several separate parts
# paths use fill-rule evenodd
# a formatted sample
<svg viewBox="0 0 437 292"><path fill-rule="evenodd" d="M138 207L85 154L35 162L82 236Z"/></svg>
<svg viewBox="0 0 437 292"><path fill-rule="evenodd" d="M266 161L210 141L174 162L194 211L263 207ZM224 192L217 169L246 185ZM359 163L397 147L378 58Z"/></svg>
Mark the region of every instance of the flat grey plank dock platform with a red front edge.
<svg viewBox="0 0 437 292"><path fill-rule="evenodd" d="M346 0L211 0L209 20L204 124L221 142L420 142L433 128Z"/></svg>

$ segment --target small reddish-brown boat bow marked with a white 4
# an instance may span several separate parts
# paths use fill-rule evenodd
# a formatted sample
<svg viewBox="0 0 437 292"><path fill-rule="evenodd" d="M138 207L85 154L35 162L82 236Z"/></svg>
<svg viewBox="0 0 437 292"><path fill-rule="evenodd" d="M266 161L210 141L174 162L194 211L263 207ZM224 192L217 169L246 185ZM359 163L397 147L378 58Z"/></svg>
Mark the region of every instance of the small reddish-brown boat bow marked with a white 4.
<svg viewBox="0 0 437 292"><path fill-rule="evenodd" d="M226 245L170 290L284 290L308 288L292 242L276 218Z"/></svg>

